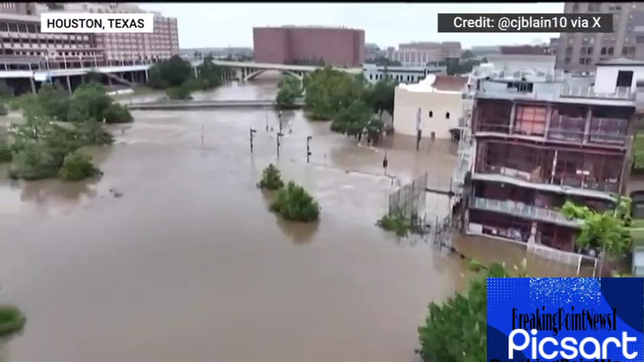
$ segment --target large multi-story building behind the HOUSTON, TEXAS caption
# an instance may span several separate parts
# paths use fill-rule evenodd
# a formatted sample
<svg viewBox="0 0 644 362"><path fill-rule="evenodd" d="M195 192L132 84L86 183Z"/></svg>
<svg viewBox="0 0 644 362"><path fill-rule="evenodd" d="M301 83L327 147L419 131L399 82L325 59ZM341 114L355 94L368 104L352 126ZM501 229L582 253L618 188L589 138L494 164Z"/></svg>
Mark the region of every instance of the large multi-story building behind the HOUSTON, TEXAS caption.
<svg viewBox="0 0 644 362"><path fill-rule="evenodd" d="M41 3L0 3L0 66L7 70L156 62L178 53L176 19L155 16L154 33L40 32ZM64 3L71 12L143 12L128 3Z"/></svg>

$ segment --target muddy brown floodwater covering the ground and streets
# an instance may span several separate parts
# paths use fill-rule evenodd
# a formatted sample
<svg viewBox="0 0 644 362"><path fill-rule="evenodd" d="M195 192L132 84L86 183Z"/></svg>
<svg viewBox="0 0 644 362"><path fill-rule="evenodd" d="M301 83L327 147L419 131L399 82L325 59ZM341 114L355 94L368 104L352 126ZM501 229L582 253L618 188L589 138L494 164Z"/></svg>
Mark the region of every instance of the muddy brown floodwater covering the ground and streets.
<svg viewBox="0 0 644 362"><path fill-rule="evenodd" d="M203 97L275 91L265 78ZM113 129L114 146L90 150L105 173L98 182L0 179L0 303L28 316L24 333L1 345L1 361L418 360L428 302L464 288L470 274L459 258L375 227L395 189L384 149L359 148L302 111L284 113L279 160L272 111L134 115ZM388 173L401 182L451 175L449 142L419 153L413 140L387 142ZM269 162L316 197L318 224L268 211L256 182ZM427 202L448 212L443 196ZM524 258L513 243L455 243L483 262ZM575 272L533 259L529 269Z"/></svg>

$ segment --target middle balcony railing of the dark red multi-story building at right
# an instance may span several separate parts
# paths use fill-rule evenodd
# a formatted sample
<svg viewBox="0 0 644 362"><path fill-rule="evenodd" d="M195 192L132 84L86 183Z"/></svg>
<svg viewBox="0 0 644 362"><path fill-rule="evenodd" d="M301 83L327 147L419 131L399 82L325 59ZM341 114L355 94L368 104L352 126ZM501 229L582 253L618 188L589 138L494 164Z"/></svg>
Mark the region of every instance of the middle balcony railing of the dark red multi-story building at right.
<svg viewBox="0 0 644 362"><path fill-rule="evenodd" d="M521 171L504 166L493 166L481 164L476 168L478 173L502 175L516 180L533 182L535 184L576 187L578 189L591 189L607 193L619 192L620 182L618 178L596 181L592 175L562 174L542 175L539 167L533 167L533 171Z"/></svg>

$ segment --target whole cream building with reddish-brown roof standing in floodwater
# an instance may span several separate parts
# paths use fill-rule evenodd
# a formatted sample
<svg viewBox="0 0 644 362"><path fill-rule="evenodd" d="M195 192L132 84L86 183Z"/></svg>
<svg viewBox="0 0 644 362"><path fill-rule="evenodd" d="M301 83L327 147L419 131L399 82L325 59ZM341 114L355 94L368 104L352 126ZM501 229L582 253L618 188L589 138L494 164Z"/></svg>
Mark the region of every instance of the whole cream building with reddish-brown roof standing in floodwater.
<svg viewBox="0 0 644 362"><path fill-rule="evenodd" d="M395 133L422 137L452 137L450 129L459 127L465 104L468 78L430 74L417 84L400 84L393 100Z"/></svg>

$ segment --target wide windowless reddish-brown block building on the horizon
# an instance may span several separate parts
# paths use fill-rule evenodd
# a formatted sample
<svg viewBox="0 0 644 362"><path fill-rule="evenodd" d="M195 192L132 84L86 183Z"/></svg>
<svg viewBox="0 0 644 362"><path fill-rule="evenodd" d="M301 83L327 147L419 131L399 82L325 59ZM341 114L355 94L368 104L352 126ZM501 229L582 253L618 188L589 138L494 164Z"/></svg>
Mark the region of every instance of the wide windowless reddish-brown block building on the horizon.
<svg viewBox="0 0 644 362"><path fill-rule="evenodd" d="M252 29L253 59L276 64L316 62L339 67L365 62L365 31L323 26Z"/></svg>

